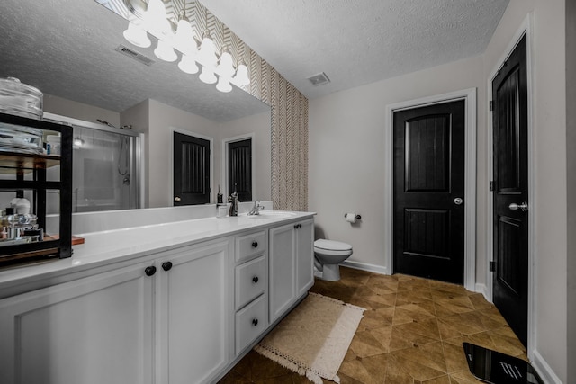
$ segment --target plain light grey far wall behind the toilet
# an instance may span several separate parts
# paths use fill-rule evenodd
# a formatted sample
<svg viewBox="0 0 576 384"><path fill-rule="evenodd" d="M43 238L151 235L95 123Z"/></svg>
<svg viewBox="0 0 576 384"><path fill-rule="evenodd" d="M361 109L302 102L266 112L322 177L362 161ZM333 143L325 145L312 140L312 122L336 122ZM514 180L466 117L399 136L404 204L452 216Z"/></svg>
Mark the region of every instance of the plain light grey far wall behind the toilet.
<svg viewBox="0 0 576 384"><path fill-rule="evenodd" d="M354 247L350 261L390 273L383 244L385 221L393 213L383 211L384 201L391 198L385 185L392 183L383 174L383 147L392 147L384 142L386 105L478 87L482 109L483 84L482 58L476 57L312 99L309 208L318 212L316 237L347 242ZM483 119L479 114L481 127ZM481 137L479 133L479 143L485 141ZM361 214L362 221L351 226L345 212ZM482 236L478 240L484 255Z"/></svg>

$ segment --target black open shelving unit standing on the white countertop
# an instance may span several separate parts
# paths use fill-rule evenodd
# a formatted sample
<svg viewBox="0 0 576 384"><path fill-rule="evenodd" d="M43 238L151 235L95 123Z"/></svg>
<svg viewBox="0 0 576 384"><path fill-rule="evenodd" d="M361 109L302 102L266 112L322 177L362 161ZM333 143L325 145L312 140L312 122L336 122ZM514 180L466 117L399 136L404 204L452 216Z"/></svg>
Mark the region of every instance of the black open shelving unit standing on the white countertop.
<svg viewBox="0 0 576 384"><path fill-rule="evenodd" d="M59 233L46 236L44 241L21 245L0 246L0 263L42 257L66 258L72 255L72 127L49 121L29 119L0 113L0 124L21 126L60 133L60 156L0 151L0 174L13 175L0 180L0 191L33 192L31 212L38 216L40 228L46 228L47 191L59 195ZM48 181L47 169L59 165L58 181ZM30 177L31 174L31 177ZM25 180L25 176L28 179Z"/></svg>

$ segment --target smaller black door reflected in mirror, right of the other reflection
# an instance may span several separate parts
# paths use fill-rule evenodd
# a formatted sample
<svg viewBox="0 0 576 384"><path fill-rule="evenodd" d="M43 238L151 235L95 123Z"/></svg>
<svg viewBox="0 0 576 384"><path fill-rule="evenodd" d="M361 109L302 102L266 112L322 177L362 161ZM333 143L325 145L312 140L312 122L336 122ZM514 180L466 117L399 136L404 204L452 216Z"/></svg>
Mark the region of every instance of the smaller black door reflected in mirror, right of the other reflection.
<svg viewBox="0 0 576 384"><path fill-rule="evenodd" d="M228 195L236 189L239 201L252 201L252 139L228 144Z"/></svg>

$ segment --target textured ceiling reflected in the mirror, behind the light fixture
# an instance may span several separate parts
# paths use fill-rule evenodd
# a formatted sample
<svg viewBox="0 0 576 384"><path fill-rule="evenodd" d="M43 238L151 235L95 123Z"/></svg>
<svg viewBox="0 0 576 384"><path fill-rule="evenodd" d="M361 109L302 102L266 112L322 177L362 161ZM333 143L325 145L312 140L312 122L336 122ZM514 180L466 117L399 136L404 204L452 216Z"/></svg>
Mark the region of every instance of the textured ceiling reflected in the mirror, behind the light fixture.
<svg viewBox="0 0 576 384"><path fill-rule="evenodd" d="M94 0L0 1L0 77L14 76L46 94L122 112L148 98L213 121L269 111L234 87L229 94L135 49L127 22ZM147 67L116 52L120 44L153 58ZM153 44L154 47L156 44Z"/></svg>

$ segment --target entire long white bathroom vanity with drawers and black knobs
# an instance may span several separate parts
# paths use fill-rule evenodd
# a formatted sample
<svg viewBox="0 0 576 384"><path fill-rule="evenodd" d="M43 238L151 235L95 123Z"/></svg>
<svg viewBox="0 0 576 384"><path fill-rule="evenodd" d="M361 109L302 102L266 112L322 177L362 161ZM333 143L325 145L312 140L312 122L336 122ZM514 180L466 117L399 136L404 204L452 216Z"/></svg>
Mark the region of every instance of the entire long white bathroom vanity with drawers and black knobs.
<svg viewBox="0 0 576 384"><path fill-rule="evenodd" d="M304 214L284 225L205 220L198 230L210 237L160 238L139 255L85 252L58 261L68 269L0 281L13 292L0 296L0 383L217 382L311 288L314 220Z"/></svg>

